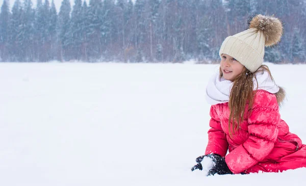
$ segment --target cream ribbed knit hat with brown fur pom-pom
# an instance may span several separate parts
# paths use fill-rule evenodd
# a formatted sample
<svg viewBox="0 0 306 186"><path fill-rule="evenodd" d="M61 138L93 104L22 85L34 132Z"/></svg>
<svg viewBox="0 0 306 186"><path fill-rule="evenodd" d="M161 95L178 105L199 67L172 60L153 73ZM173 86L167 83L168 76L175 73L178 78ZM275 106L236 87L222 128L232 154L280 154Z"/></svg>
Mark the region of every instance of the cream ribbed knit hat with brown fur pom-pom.
<svg viewBox="0 0 306 186"><path fill-rule="evenodd" d="M265 46L277 44L282 35L283 25L278 18L259 14L250 21L249 29L225 38L219 55L232 56L254 72L264 62Z"/></svg>

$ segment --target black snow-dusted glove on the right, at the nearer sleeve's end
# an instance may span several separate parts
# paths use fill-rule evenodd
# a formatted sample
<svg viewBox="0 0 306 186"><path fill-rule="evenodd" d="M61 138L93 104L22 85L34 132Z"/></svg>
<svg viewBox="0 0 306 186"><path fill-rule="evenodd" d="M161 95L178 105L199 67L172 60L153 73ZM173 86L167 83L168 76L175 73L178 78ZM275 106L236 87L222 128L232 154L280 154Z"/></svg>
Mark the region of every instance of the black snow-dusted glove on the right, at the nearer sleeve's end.
<svg viewBox="0 0 306 186"><path fill-rule="evenodd" d="M224 157L221 157L219 154L209 154L209 157L212 158L216 165L208 171L208 176L214 174L233 174L232 171L227 167Z"/></svg>

